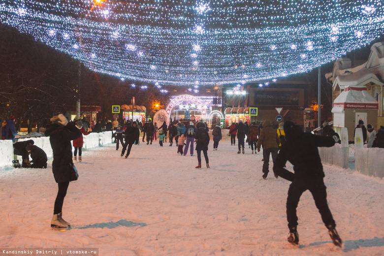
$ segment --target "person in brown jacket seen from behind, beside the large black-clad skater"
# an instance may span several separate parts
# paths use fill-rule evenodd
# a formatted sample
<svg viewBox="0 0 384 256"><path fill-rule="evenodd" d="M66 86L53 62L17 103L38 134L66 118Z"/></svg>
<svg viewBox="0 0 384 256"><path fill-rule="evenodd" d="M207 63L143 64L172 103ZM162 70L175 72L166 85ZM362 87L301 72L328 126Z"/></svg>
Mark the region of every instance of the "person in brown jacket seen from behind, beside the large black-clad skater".
<svg viewBox="0 0 384 256"><path fill-rule="evenodd" d="M278 152L278 145L280 144L280 138L276 130L272 128L271 122L265 120L263 128L260 131L260 135L257 140L257 152L260 152L260 147L263 145L263 179L267 179L269 172L269 155L272 155L272 162L275 162Z"/></svg>

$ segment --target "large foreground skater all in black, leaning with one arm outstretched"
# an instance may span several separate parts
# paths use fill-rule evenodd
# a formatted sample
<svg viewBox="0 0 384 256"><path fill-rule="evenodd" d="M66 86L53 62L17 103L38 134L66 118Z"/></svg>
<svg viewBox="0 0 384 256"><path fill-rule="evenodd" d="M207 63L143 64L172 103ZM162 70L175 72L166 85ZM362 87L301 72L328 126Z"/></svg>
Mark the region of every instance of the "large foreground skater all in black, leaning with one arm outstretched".
<svg viewBox="0 0 384 256"><path fill-rule="evenodd" d="M290 235L288 242L298 244L296 208L300 196L309 190L319 209L321 219L329 230L329 234L335 245L341 246L341 239L335 229L331 211L326 199L326 187L324 185L324 172L321 164L318 147L332 147L335 141L332 137L317 136L304 133L294 123L287 121L284 124L286 142L274 162L273 172L278 176L291 181L287 198L287 219ZM285 169L286 162L293 164L294 173Z"/></svg>

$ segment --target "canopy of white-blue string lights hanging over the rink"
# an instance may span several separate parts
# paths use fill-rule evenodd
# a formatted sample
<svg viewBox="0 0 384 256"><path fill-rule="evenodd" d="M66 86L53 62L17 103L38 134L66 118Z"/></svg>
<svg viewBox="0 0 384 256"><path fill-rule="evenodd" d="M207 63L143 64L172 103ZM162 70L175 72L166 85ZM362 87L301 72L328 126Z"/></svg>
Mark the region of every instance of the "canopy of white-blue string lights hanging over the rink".
<svg viewBox="0 0 384 256"><path fill-rule="evenodd" d="M384 34L382 0L0 0L0 18L96 72L194 87L306 72Z"/></svg>

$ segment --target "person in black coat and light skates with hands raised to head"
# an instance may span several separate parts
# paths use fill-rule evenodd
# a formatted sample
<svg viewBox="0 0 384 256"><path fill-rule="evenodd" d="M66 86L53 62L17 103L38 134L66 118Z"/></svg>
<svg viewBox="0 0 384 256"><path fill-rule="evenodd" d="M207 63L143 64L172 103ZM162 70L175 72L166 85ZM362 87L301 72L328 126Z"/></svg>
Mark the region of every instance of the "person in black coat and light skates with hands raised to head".
<svg viewBox="0 0 384 256"><path fill-rule="evenodd" d="M82 134L73 123L68 123L62 114L51 118L51 122L53 124L46 129L45 135L50 136L53 151L52 172L59 186L51 226L68 228L70 224L63 220L62 208L73 166L71 140L79 138Z"/></svg>

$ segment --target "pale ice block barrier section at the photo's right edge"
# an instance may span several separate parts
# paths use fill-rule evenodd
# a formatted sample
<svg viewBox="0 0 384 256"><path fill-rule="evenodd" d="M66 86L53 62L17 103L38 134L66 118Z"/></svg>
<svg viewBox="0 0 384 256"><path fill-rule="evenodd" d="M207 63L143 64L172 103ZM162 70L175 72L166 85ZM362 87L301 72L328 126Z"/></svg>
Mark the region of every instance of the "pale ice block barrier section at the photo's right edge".
<svg viewBox="0 0 384 256"><path fill-rule="evenodd" d="M384 177L384 149L361 148L355 151L354 167L356 171L369 176Z"/></svg>

